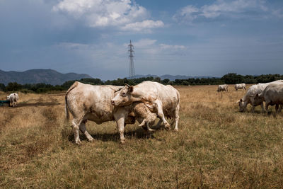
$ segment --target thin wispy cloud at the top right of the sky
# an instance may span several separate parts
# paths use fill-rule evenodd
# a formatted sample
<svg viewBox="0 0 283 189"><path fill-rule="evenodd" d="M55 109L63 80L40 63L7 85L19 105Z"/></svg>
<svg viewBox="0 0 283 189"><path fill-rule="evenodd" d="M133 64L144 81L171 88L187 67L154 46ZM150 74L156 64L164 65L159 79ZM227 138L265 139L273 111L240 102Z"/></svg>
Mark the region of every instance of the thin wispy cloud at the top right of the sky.
<svg viewBox="0 0 283 189"><path fill-rule="evenodd" d="M261 17L266 17L270 8L264 0L217 0L214 4L204 5L200 8L189 5L181 8L173 18L175 21L192 22L197 18L217 18L219 16L231 18L243 18L249 12L258 13ZM275 15L275 13L274 13Z"/></svg>

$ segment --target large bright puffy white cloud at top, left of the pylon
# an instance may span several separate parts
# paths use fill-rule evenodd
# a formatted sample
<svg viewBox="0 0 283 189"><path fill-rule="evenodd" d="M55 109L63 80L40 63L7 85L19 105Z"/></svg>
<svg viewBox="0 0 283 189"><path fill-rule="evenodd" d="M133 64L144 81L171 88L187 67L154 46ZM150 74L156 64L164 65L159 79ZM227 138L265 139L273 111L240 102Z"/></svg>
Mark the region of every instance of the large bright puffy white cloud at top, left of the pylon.
<svg viewBox="0 0 283 189"><path fill-rule="evenodd" d="M131 0L62 0L53 11L81 19L89 27L116 26L121 30L150 31L163 27L162 21L149 20L149 12Z"/></svg>

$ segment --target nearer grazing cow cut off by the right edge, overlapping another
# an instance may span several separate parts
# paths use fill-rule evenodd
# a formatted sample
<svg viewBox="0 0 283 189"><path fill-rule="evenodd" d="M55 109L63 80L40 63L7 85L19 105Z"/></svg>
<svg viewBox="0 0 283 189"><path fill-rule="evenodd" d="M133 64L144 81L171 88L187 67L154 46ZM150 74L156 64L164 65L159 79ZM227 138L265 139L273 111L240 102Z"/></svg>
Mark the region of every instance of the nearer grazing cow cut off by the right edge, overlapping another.
<svg viewBox="0 0 283 189"><path fill-rule="evenodd" d="M269 84L262 93L256 94L253 97L257 101L265 101L265 111L267 113L269 105L275 105L276 113L279 113L281 112L283 105L283 83Z"/></svg>

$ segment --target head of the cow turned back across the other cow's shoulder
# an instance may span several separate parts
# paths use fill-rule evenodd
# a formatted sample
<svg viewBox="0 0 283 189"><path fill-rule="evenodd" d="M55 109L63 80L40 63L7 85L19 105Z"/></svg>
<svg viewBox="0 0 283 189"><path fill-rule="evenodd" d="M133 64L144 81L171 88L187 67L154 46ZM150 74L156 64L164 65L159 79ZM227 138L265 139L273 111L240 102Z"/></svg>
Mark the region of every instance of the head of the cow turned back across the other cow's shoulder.
<svg viewBox="0 0 283 189"><path fill-rule="evenodd" d="M132 91L134 91L134 86L129 86L126 84L120 91L115 93L114 98L112 98L112 105L129 105L132 103Z"/></svg>

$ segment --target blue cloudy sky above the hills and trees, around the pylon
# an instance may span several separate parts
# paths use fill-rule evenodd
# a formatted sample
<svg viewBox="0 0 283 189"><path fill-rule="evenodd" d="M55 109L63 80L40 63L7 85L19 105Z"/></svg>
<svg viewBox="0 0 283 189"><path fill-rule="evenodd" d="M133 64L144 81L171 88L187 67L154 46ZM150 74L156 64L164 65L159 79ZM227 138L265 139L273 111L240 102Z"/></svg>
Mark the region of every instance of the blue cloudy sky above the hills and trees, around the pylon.
<svg viewBox="0 0 283 189"><path fill-rule="evenodd" d="M283 74L282 0L0 0L0 69Z"/></svg>

